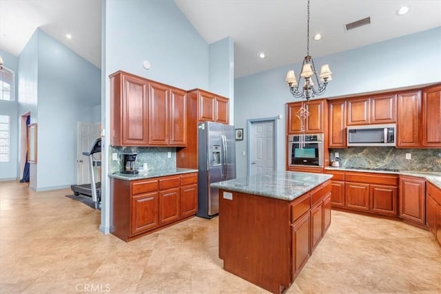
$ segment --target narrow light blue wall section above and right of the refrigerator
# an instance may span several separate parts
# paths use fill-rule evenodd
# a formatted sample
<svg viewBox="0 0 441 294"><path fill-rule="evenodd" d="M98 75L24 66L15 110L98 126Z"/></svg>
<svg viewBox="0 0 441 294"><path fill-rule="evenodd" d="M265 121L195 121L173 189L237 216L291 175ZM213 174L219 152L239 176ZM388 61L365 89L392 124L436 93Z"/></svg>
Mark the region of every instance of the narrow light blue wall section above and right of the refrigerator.
<svg viewBox="0 0 441 294"><path fill-rule="evenodd" d="M208 90L229 98L229 124L234 125L234 41L230 37L209 44Z"/></svg>

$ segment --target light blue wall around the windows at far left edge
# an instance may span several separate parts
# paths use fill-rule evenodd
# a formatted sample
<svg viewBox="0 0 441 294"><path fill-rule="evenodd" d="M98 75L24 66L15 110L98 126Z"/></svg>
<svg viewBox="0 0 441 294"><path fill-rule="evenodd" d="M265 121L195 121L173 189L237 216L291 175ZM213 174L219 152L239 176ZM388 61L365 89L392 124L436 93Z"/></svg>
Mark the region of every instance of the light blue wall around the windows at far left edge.
<svg viewBox="0 0 441 294"><path fill-rule="evenodd" d="M19 69L19 59L8 52L0 50L3 58L3 66L14 72L14 101L0 100L0 114L10 116L10 158L9 162L0 162L0 180L14 180L17 178L18 162L18 134L19 120L17 118L17 74Z"/></svg>

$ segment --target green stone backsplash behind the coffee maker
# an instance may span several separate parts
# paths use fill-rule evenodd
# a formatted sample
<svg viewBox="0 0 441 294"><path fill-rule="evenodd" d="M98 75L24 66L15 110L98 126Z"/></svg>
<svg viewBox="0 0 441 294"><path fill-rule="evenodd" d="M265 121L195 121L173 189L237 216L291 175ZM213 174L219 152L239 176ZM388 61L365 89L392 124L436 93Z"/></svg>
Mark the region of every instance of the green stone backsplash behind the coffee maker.
<svg viewBox="0 0 441 294"><path fill-rule="evenodd" d="M168 152L171 158L168 158ZM118 154L118 160L112 160L112 154ZM135 168L142 169L147 163L150 170L176 168L176 147L109 147L109 174L123 170L123 153L136 153Z"/></svg>

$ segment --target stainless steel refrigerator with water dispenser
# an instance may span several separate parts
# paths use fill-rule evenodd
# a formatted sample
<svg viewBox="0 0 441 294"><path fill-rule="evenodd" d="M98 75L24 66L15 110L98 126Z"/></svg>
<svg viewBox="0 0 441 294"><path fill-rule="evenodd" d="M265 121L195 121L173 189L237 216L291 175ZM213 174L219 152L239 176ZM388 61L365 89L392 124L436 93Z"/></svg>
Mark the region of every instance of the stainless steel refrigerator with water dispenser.
<svg viewBox="0 0 441 294"><path fill-rule="evenodd" d="M198 123L198 213L213 218L219 212L219 193L212 182L236 178L234 126Z"/></svg>

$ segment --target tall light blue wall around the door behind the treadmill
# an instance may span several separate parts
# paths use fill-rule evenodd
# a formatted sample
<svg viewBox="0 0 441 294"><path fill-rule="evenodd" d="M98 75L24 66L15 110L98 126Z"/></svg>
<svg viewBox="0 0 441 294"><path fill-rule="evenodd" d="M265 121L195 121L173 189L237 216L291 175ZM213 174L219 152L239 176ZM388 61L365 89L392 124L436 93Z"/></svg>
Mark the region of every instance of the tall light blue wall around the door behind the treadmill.
<svg viewBox="0 0 441 294"><path fill-rule="evenodd" d="M101 70L38 32L37 190L76 183L76 122L101 101Z"/></svg>

